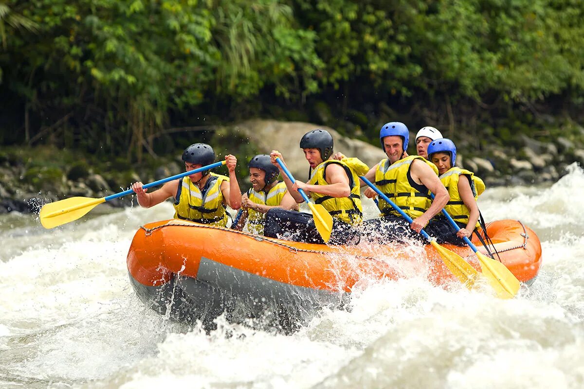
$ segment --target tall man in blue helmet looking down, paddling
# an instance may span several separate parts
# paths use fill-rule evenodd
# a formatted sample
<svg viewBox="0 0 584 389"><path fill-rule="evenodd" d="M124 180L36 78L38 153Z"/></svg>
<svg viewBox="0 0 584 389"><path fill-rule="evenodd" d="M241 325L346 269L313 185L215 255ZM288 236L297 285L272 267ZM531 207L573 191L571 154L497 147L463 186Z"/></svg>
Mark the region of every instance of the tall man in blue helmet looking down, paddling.
<svg viewBox="0 0 584 389"><path fill-rule="evenodd" d="M425 229L433 235L433 225L430 222L434 215L442 211L449 201L449 194L438 178L438 171L433 163L422 156L408 156L409 131L402 122L390 122L381 127L381 147L387 159L372 167L365 177L376 186L413 219L409 224L399 212L383 199L379 199L381 219L367 220L366 230L370 233L382 233L381 240L402 241L405 238L422 239L420 230ZM435 195L434 200L430 192ZM373 198L376 193L367 188L364 194ZM428 223L430 222L430 225ZM440 235L441 229L449 230L449 226L436 226ZM415 232L415 233L414 233ZM369 233L368 233L369 234ZM439 236L436 236L440 240Z"/></svg>

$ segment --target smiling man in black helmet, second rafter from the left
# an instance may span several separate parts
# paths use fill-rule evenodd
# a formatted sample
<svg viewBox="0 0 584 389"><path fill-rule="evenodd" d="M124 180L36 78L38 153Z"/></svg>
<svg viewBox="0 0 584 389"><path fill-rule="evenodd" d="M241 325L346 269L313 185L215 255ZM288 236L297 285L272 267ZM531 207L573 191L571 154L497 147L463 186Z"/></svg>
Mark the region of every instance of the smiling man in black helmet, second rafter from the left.
<svg viewBox="0 0 584 389"><path fill-rule="evenodd" d="M298 211L296 200L288 192L284 181L278 181L278 168L270 156L259 154L249 160L249 182L252 187L241 197L242 215L236 230L242 230L247 222L248 230L262 235L266 212L272 208Z"/></svg>

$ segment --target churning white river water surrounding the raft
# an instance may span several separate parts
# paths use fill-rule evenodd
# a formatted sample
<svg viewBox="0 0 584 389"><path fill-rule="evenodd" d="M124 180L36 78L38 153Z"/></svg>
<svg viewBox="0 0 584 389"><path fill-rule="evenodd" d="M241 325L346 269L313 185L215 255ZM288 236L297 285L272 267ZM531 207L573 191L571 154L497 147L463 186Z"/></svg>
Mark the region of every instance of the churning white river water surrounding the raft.
<svg viewBox="0 0 584 389"><path fill-rule="evenodd" d="M519 219L541 239L540 275L516 299L421 277L373 283L351 311L325 310L293 335L221 317L206 335L144 308L126 254L170 204L101 205L54 230L2 215L0 388L582 388L583 193L571 166L554 185L479 199L487 221Z"/></svg>

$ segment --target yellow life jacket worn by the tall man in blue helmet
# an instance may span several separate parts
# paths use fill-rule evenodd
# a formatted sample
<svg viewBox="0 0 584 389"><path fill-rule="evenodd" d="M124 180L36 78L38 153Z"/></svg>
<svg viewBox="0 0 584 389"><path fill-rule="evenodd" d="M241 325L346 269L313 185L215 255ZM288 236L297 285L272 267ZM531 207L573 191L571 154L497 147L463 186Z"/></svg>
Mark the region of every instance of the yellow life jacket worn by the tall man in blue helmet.
<svg viewBox="0 0 584 389"><path fill-rule="evenodd" d="M416 159L427 163L432 167L436 176L438 175L436 165L418 155L407 156L393 164L390 164L390 160L383 159L375 171L375 184L379 190L412 219L418 218L432 204L428 188L415 183L409 175L412 162ZM379 198L378 201L379 209L383 215L399 216L399 212L395 211L383 198Z"/></svg>

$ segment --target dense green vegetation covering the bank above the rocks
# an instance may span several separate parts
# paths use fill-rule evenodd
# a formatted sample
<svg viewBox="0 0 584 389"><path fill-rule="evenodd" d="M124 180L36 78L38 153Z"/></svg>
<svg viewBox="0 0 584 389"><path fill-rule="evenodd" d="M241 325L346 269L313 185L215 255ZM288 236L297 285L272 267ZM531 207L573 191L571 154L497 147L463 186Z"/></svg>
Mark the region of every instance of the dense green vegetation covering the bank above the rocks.
<svg viewBox="0 0 584 389"><path fill-rule="evenodd" d="M4 0L0 142L140 160L253 116L549 136L582 114L582 20L581 0Z"/></svg>

